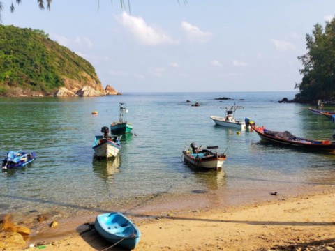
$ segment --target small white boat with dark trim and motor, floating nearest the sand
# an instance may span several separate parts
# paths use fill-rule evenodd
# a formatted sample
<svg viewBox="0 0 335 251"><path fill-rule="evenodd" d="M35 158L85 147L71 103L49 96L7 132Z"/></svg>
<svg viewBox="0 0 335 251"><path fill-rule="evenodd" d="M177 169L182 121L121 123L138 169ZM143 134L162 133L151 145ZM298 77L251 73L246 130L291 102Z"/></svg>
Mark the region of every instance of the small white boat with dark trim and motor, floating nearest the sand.
<svg viewBox="0 0 335 251"><path fill-rule="evenodd" d="M202 146L197 147L195 142L193 142L190 145L190 149L183 151L182 157L184 162L194 167L219 170L222 168L227 156L225 152L218 153L216 149L218 149L218 146L207 146L206 149L202 149Z"/></svg>

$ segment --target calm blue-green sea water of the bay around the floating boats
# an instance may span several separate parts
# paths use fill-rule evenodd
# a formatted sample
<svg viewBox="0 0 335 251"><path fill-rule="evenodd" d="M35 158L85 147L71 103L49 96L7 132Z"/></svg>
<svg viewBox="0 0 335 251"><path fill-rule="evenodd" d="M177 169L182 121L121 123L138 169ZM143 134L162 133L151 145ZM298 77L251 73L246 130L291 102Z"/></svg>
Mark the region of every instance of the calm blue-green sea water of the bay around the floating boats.
<svg viewBox="0 0 335 251"><path fill-rule="evenodd" d="M124 93L99 98L1 98L0 155L36 151L32 165L0 172L0 213L62 212L133 208L157 195L189 195L216 190L225 200L253 198L278 190L335 184L335 156L306 153L260 142L255 132L214 126L241 105L237 119L249 117L270 130L329 139L335 129L306 105L278 103L293 92ZM233 100L219 102L215 98ZM191 103L186 102L191 100ZM119 158L95 160L92 143L102 126L128 107L134 135L122 139ZM200 107L192 107L200 102ZM91 112L97 111L97 115ZM228 159L223 172L197 172L181 162L191 142L218 145ZM1 157L2 159L2 157ZM221 198L222 199L222 198Z"/></svg>

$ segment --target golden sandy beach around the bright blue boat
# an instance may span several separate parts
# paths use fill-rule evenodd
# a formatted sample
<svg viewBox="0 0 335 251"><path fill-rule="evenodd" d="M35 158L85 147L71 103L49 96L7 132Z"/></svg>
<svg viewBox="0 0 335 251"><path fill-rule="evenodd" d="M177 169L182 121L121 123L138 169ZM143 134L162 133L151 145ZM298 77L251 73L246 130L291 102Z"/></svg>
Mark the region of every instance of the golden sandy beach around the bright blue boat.
<svg viewBox="0 0 335 251"><path fill-rule="evenodd" d="M59 227L27 241L27 246L6 250L122 250L106 249L111 244L91 229L95 216L61 222ZM274 200L219 210L150 212L128 217L142 231L135 250L335 249L332 186L310 195L277 195ZM34 248L29 248L29 243L34 243Z"/></svg>

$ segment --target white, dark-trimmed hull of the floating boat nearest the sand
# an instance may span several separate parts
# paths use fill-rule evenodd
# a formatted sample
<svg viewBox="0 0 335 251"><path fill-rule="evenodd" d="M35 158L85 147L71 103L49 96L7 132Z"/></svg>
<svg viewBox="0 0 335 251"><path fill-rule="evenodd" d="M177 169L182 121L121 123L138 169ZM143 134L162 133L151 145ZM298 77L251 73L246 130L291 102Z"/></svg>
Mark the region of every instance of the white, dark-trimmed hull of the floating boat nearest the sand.
<svg viewBox="0 0 335 251"><path fill-rule="evenodd" d="M194 167L200 167L203 169L221 169L223 163L226 160L225 155L209 155L200 157L196 153L190 151L183 151L184 162L193 165Z"/></svg>

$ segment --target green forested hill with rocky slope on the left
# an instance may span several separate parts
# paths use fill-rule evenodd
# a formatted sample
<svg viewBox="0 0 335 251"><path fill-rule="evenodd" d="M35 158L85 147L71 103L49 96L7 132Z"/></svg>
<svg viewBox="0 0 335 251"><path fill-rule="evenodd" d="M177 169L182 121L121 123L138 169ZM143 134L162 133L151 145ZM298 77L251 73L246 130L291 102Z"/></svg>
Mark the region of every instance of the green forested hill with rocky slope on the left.
<svg viewBox="0 0 335 251"><path fill-rule="evenodd" d="M91 63L44 31L0 25L0 96L53 95L61 87L76 93L83 86L104 93Z"/></svg>

